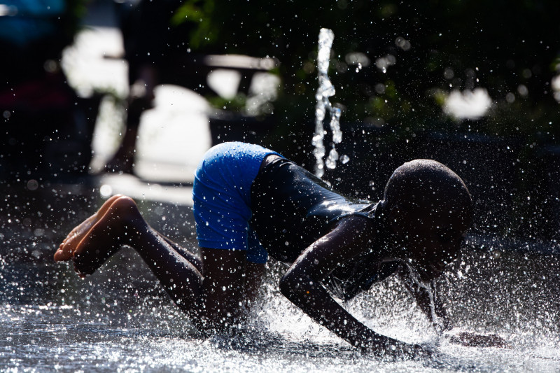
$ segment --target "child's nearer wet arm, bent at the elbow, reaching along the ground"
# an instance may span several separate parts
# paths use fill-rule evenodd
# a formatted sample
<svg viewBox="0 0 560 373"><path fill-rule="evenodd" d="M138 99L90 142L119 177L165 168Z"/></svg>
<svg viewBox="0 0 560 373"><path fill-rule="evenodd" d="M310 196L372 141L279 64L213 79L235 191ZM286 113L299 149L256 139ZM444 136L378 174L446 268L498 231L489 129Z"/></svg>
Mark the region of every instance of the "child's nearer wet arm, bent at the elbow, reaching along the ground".
<svg viewBox="0 0 560 373"><path fill-rule="evenodd" d="M367 242L363 238L363 221L362 218L346 218L332 232L309 246L282 277L280 290L314 321L353 346L377 352L416 350L421 353L419 346L399 342L367 328L332 299L319 283L339 263L363 250L363 244Z"/></svg>

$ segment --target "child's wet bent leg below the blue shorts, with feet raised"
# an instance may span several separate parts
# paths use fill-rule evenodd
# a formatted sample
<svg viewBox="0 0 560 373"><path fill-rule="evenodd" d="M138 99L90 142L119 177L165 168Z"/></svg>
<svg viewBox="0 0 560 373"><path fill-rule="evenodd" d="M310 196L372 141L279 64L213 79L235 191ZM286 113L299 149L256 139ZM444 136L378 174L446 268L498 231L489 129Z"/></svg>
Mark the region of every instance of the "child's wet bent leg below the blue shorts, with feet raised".
<svg viewBox="0 0 560 373"><path fill-rule="evenodd" d="M69 234L55 260L73 259L76 272L92 274L123 245L141 255L197 328L222 329L238 320L244 293L244 251L202 248L202 262L190 262L194 255L153 230L130 197L109 199Z"/></svg>

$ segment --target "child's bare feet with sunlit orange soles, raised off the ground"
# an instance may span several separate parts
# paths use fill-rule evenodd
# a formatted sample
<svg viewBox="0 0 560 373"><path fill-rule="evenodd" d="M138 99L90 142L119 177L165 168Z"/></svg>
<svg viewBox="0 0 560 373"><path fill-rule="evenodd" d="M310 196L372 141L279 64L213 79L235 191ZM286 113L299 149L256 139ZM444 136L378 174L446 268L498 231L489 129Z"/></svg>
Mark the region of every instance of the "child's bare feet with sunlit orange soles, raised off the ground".
<svg viewBox="0 0 560 373"><path fill-rule="evenodd" d="M118 195L107 200L97 213L72 231L76 232L62 243L55 253L55 260L72 259L80 276L92 274L120 246L127 244L123 223L127 213L134 211L137 206L130 197Z"/></svg>

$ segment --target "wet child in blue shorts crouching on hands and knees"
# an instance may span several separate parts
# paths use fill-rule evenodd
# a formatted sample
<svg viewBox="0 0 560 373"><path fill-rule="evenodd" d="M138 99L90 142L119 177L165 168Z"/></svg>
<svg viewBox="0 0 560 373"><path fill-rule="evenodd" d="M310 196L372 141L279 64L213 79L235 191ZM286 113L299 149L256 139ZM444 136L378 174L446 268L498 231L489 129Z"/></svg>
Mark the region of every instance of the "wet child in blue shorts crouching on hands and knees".
<svg viewBox="0 0 560 373"><path fill-rule="evenodd" d="M399 272L433 325L449 328L433 279L458 252L472 202L444 165L403 164L374 204L340 195L272 150L223 143L200 162L193 199L200 258L153 230L130 197L116 195L70 232L55 260L73 260L85 276L132 246L195 326L215 332L243 320L270 255L290 265L281 293L314 321L360 349L420 353L370 330L330 295L349 299Z"/></svg>

